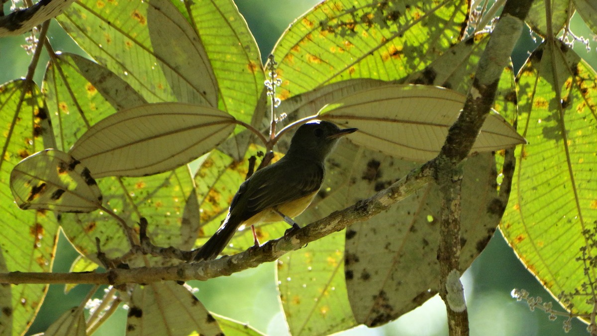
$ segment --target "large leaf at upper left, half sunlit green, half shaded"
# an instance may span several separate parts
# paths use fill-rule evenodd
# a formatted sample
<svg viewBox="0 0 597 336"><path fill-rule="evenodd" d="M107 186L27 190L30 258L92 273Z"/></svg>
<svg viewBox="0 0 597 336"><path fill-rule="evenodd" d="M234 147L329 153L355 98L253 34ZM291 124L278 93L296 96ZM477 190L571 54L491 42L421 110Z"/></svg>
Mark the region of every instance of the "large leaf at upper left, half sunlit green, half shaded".
<svg viewBox="0 0 597 336"><path fill-rule="evenodd" d="M217 106L216 79L201 40L170 1L81 1L57 19L148 102Z"/></svg>

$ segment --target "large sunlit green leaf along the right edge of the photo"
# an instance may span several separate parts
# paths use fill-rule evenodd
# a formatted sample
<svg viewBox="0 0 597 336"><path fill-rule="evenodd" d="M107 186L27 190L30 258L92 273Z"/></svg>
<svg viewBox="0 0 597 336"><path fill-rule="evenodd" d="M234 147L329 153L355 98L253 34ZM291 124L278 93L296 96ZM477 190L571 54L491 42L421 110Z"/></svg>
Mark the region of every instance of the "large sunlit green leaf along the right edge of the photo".
<svg viewBox="0 0 597 336"><path fill-rule="evenodd" d="M500 228L563 306L588 315L597 276L588 266L597 253L597 74L565 44L553 44L538 47L518 74L518 125L529 143L516 151Z"/></svg>

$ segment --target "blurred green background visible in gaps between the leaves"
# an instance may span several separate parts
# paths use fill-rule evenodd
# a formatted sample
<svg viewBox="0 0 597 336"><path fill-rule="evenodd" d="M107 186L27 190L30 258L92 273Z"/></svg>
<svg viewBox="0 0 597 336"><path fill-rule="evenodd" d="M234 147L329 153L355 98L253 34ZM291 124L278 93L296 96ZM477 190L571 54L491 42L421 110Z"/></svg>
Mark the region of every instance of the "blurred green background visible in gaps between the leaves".
<svg viewBox="0 0 597 336"><path fill-rule="evenodd" d="M279 36L293 20L318 3L314 0L236 0L239 10L248 22L261 57L266 59ZM5 5L9 12L10 2ZM593 68L597 68L595 36L584 25L578 15L573 17L571 29L577 36L589 38L587 46L576 43L574 50ZM57 25L51 23L48 33L55 50L69 51L84 55L81 49ZM24 48L23 36L0 39L0 83L23 77L29 65L30 56ZM528 32L523 33L513 53L515 69L524 63L529 51L540 41ZM41 83L47 54L42 54L35 74L36 83ZM66 238L61 234L57 249L54 271L67 272L78 256ZM189 282L198 289L196 296L214 313L225 314L242 323L250 323L268 335L288 334L276 295L274 283L275 264L263 264L230 277L208 280L207 282ZM525 303L516 302L510 295L514 288L525 289L531 296L540 296L543 301L551 299L535 277L528 273L521 262L507 245L499 231L496 232L485 251L473 262L463 275L470 319L471 335L560 335L562 317L551 322L547 314L530 311ZM57 317L67 309L78 306L82 298L91 289L90 285L78 285L64 293L64 285L51 285L38 317L27 332L28 335L43 332ZM96 294L97 298L103 291ZM552 300L553 301L553 300ZM127 311L119 309L94 335L124 335ZM446 335L447 320L444 303L436 295L423 306L400 317L398 320L368 329L364 326L341 332L342 335ZM586 335L586 325L573 320L572 331L568 335Z"/></svg>

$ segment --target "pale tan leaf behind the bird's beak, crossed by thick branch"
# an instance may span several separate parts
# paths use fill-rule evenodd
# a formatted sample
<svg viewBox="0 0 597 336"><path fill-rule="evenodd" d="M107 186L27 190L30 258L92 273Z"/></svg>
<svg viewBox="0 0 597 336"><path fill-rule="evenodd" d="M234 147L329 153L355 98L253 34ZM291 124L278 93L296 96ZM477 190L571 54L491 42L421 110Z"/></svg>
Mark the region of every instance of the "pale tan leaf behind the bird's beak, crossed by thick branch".
<svg viewBox="0 0 597 336"><path fill-rule="evenodd" d="M350 140L403 158L435 157L464 105L456 91L425 85L386 85L359 91L322 109L322 118L359 132ZM488 115L471 152L496 151L524 143L500 115Z"/></svg>

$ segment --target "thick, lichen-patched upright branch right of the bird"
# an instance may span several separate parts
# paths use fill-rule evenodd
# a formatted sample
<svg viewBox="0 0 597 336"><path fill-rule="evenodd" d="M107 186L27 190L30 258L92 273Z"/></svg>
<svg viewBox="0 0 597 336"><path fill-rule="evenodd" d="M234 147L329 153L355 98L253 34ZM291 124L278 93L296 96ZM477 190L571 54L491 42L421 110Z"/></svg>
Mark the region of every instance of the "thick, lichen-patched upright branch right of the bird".
<svg viewBox="0 0 597 336"><path fill-rule="evenodd" d="M460 283L460 188L462 163L491 111L503 69L522 32L532 0L509 0L479 59L463 112L450 127L436 161L435 181L442 191L441 239L438 248L439 295L446 303L450 335L468 335L469 322Z"/></svg>

